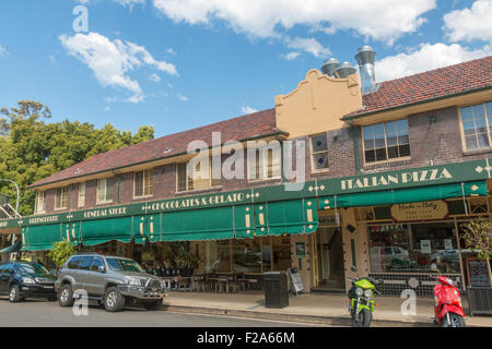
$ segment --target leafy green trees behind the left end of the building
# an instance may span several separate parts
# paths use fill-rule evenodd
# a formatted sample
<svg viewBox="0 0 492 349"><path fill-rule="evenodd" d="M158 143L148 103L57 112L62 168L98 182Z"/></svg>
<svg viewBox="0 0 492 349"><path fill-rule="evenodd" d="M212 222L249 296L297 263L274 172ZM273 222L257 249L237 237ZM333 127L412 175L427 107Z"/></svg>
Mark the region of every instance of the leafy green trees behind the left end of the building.
<svg viewBox="0 0 492 349"><path fill-rule="evenodd" d="M17 183L21 215L34 210L35 195L28 185L91 156L154 137L152 127L141 127L132 135L109 123L98 130L79 121L47 123L50 118L50 109L33 100L20 100L17 107L10 110L0 109L0 178ZM15 188L0 182L0 192L9 195L15 207Z"/></svg>

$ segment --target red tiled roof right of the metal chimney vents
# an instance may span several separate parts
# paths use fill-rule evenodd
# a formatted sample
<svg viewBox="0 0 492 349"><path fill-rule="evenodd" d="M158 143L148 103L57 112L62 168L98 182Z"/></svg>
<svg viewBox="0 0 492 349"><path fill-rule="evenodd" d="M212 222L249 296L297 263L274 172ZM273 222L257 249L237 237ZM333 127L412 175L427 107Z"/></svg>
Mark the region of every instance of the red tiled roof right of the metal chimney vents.
<svg viewBox="0 0 492 349"><path fill-rule="evenodd" d="M343 119L352 119L484 87L492 87L492 56L386 81L379 85L376 92L362 97L362 109L345 116Z"/></svg>

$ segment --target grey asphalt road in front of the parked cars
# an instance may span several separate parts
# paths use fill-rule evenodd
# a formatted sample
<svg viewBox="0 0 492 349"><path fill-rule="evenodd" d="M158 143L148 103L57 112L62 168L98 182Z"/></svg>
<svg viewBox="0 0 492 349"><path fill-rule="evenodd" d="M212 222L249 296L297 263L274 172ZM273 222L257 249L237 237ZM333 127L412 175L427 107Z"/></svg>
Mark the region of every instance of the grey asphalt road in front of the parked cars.
<svg viewBox="0 0 492 349"><path fill-rule="evenodd" d="M293 327L305 324L248 320L213 315L171 313L162 310L125 309L107 313L103 308L90 306L86 316L75 316L71 308L58 302L26 300L10 303L0 297L0 327Z"/></svg>

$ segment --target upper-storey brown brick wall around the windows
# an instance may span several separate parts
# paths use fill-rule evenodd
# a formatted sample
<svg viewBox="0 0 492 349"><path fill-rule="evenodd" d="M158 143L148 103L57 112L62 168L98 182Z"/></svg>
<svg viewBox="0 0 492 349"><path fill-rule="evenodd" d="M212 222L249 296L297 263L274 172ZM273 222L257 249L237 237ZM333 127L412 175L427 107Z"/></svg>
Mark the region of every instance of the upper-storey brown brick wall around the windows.
<svg viewBox="0 0 492 349"><path fill-rule="evenodd" d="M434 121L431 122L431 120ZM293 157L295 158L295 141L305 142L305 177L306 181L309 181L316 178L321 179L355 176L356 169L353 142L354 136L359 137L360 168L362 173L424 167L431 165L431 160L434 165L468 161L477 158L488 157L492 153L492 151L471 153L462 151L457 108L446 108L436 111L412 115L408 118L408 124L411 151L411 158L408 160L391 161L379 165L364 165L361 130L353 128L343 128L341 130L329 131L326 133L329 149L329 169L327 171L312 171L311 144L308 136L303 136L294 140ZM223 160L225 160L225 158L227 157L229 155L224 155ZM293 164L295 166L295 161L293 161ZM246 159L244 168L246 171ZM282 182L282 180L250 182L247 180L247 178L232 180L223 179L222 186L219 189L194 191L187 194L176 193L176 166L174 164L155 167L153 169L153 180L154 195L152 197L133 200L133 173L115 174L113 181L114 200L112 204L107 205L118 204L118 186L119 203L129 204L139 201L171 198L191 194L195 195L220 191L234 191L263 185L274 185ZM118 181L120 181L119 185ZM96 180L86 182L84 208L96 206ZM68 209L79 208L78 191L79 186L77 184L70 185ZM54 210L54 198L55 190L48 190L45 198L47 213ZM97 207L99 206L103 205L97 205Z"/></svg>

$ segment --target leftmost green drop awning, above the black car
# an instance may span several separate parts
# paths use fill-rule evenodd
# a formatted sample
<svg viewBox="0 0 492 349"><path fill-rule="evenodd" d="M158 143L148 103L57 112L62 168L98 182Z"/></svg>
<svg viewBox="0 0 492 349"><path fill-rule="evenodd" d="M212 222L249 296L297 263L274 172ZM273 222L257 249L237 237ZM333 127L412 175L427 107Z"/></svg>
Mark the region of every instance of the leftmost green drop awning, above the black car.
<svg viewBox="0 0 492 349"><path fill-rule="evenodd" d="M24 227L21 230L22 251L48 251L62 240L61 225Z"/></svg>

